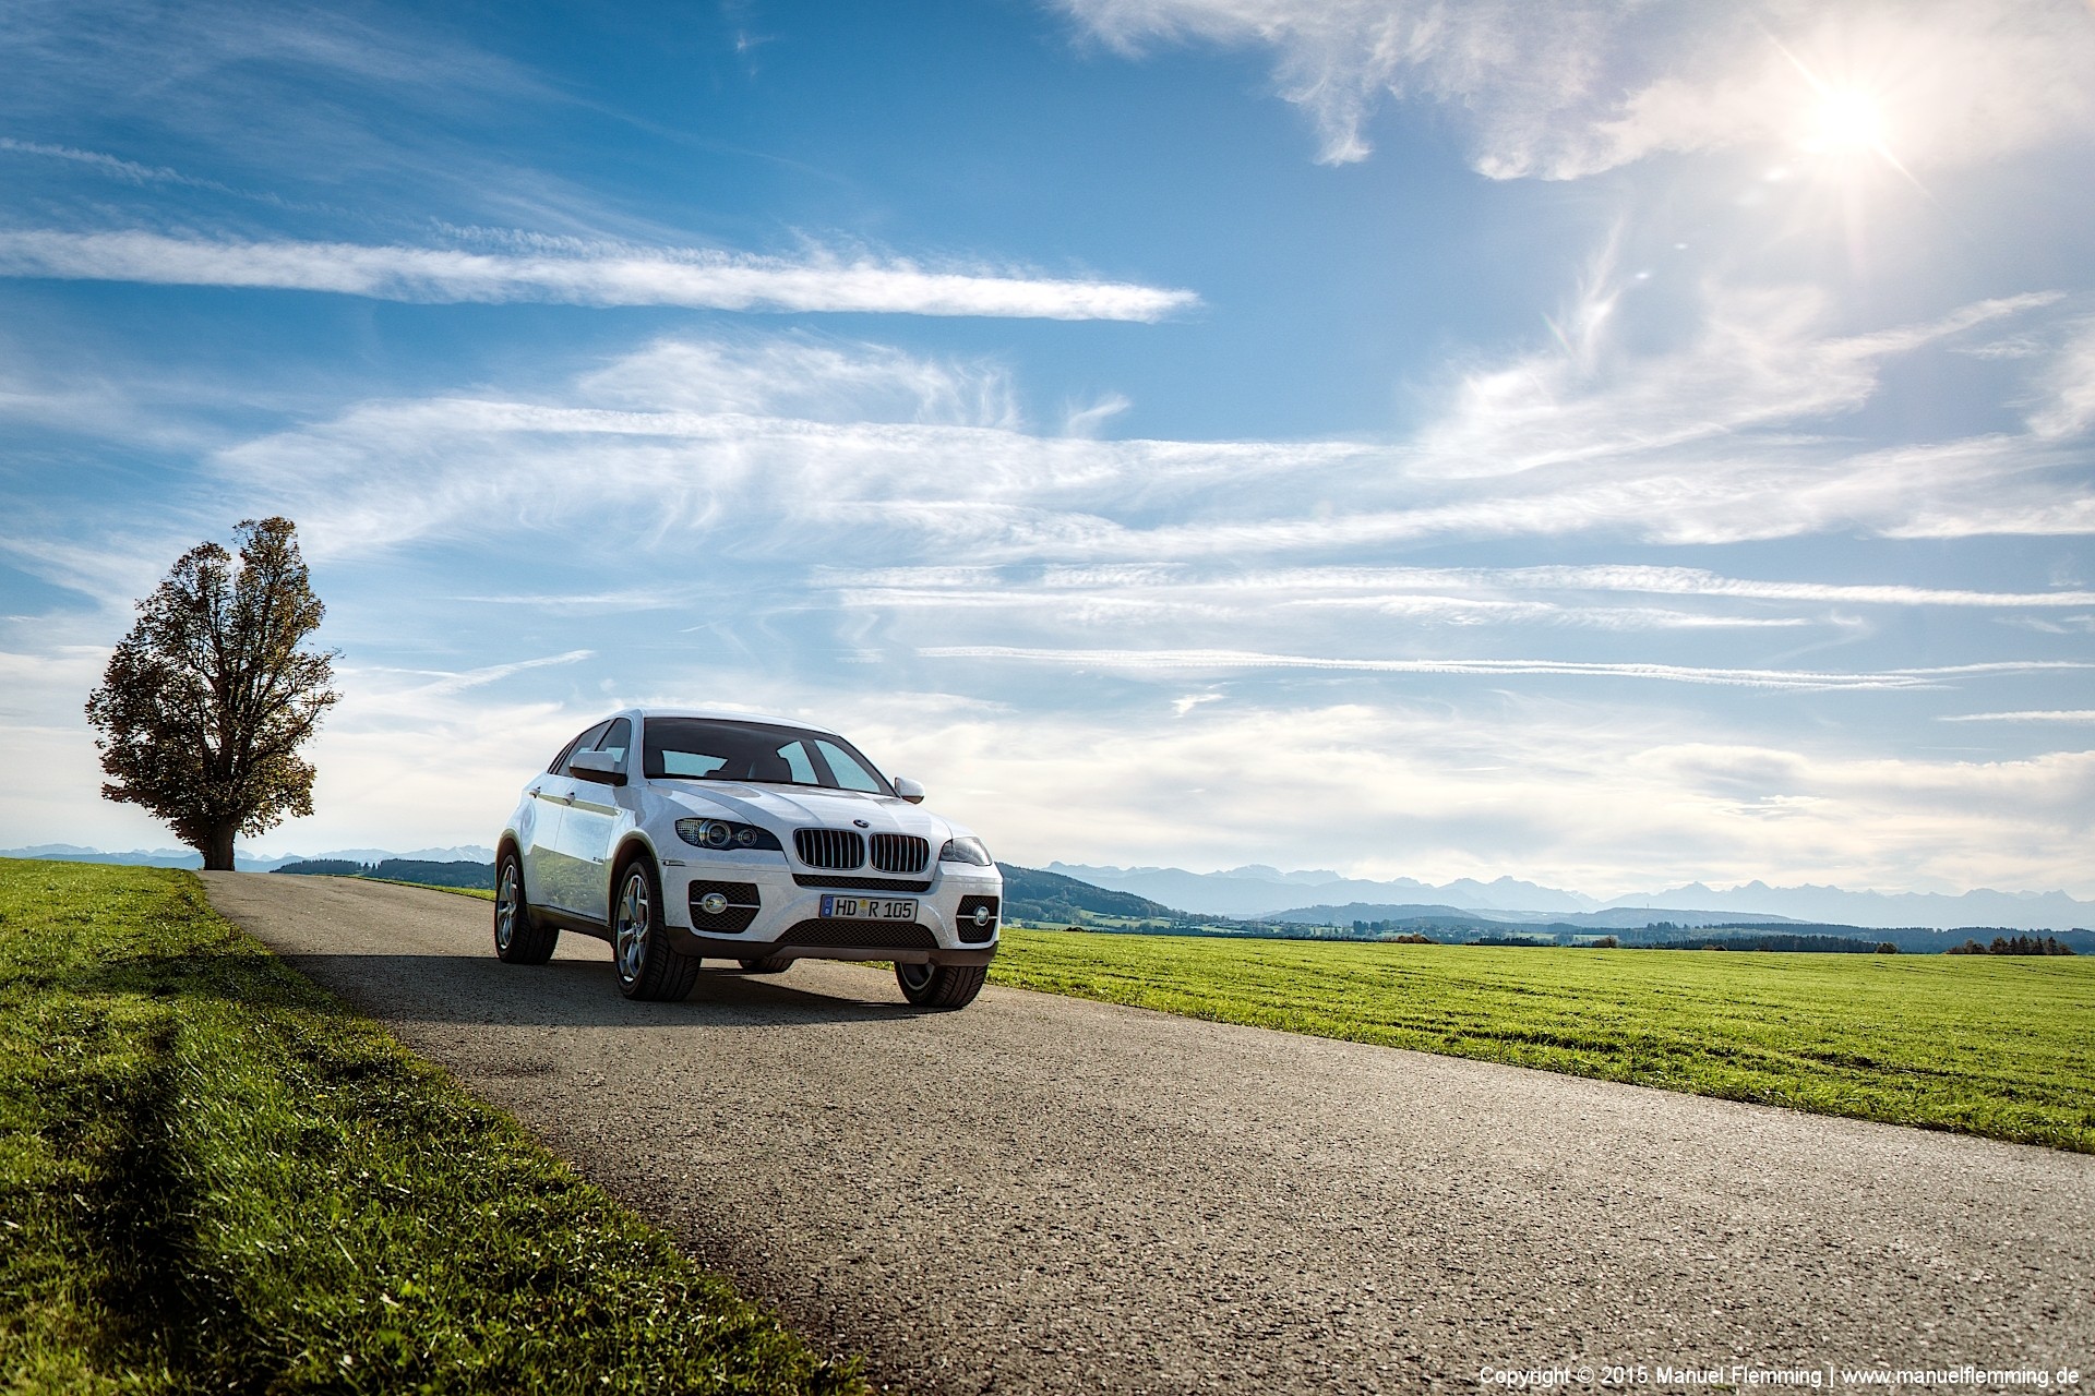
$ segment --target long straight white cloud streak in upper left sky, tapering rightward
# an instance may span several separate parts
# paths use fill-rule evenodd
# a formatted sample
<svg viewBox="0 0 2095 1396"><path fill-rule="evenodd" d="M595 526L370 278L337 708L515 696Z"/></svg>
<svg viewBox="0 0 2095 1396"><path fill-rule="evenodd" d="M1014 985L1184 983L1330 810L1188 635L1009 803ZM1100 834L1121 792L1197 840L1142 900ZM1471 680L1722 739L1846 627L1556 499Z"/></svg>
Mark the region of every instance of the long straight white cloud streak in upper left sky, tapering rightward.
<svg viewBox="0 0 2095 1396"><path fill-rule="evenodd" d="M478 253L354 243L235 243L157 232L0 232L0 276L184 287L333 291L392 301L559 301L712 310L1161 320L1190 291L1006 272L926 270L907 260L800 262L706 249L593 255Z"/></svg>

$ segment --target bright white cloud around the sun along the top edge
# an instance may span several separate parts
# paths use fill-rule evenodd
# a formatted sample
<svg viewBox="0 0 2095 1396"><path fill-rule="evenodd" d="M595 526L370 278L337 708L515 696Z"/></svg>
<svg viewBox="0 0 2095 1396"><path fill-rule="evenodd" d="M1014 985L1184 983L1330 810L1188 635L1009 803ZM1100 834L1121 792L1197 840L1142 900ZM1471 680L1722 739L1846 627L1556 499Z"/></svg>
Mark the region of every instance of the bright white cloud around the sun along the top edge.
<svg viewBox="0 0 2095 1396"><path fill-rule="evenodd" d="M1458 113L1492 178L1596 174L1659 151L1812 138L1823 90L1881 109L1909 167L1967 165L2095 128L2095 25L2072 0L1649 6L1605 0L1060 0L1089 33L1261 44L1318 159L1370 153L1385 98Z"/></svg>

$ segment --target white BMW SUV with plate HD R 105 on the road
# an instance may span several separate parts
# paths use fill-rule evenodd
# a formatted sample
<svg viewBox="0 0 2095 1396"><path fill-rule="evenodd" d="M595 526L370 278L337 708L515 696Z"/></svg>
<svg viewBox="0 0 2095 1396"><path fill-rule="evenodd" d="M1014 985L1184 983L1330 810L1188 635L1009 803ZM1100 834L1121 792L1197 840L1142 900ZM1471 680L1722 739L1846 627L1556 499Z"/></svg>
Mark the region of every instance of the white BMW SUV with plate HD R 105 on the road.
<svg viewBox="0 0 2095 1396"><path fill-rule="evenodd" d="M1004 875L836 733L629 710L532 776L494 852L494 952L543 965L564 929L612 942L626 998L683 998L702 959L892 961L926 1009L974 1000Z"/></svg>

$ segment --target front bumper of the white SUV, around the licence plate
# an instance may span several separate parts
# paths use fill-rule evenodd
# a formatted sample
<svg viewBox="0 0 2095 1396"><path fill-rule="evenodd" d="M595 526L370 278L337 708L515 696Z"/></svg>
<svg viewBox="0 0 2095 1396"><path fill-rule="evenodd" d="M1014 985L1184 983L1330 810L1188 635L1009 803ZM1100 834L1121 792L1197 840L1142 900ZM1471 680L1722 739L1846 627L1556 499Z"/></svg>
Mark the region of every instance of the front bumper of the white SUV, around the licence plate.
<svg viewBox="0 0 2095 1396"><path fill-rule="evenodd" d="M704 913L721 892L729 906ZM823 896L909 898L913 921L821 917ZM995 869L934 862L913 879L867 873L815 873L779 856L668 858L662 866L664 923L670 944L704 959L832 959L905 965L987 965L1001 931L1004 877ZM987 923L976 910L987 906Z"/></svg>

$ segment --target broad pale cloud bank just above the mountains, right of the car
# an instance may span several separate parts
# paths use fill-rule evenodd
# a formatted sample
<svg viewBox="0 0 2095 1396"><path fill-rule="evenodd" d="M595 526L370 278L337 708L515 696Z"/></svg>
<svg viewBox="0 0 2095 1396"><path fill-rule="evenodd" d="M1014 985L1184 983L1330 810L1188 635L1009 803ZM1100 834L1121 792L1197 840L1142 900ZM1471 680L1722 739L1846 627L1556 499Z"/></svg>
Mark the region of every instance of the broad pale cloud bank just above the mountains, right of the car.
<svg viewBox="0 0 2095 1396"><path fill-rule="evenodd" d="M1477 699L1159 703L1112 722L932 718L869 699L851 730L876 760L926 781L1001 858L1033 866L1238 866L1278 854L1360 877L1515 873L1594 896L1697 877L2095 890L2085 856L2095 751L1890 760L1611 701Z"/></svg>

